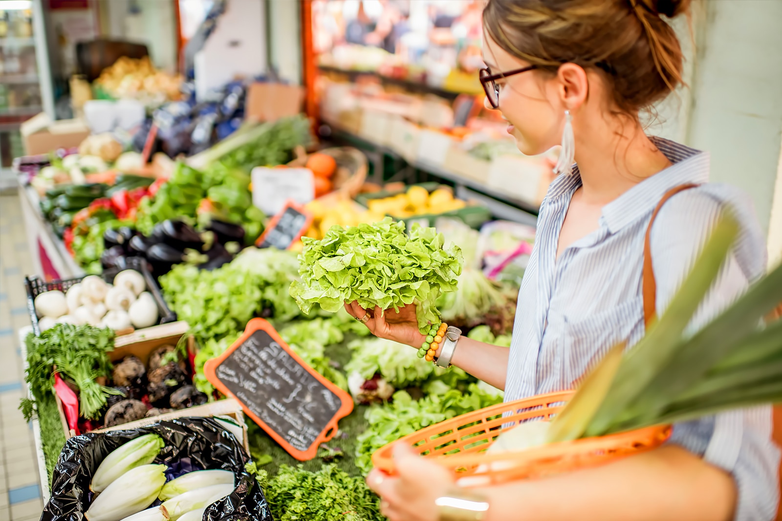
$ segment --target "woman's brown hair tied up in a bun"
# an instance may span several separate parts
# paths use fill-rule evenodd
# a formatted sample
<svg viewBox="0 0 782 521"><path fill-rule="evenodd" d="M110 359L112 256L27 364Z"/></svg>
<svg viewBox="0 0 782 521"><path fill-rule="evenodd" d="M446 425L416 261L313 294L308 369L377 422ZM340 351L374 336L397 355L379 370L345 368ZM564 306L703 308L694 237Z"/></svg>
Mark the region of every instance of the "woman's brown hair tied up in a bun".
<svg viewBox="0 0 782 521"><path fill-rule="evenodd" d="M615 105L632 115L683 83L679 39L661 15L689 8L690 0L489 0L483 27L539 70L576 63L601 71Z"/></svg>

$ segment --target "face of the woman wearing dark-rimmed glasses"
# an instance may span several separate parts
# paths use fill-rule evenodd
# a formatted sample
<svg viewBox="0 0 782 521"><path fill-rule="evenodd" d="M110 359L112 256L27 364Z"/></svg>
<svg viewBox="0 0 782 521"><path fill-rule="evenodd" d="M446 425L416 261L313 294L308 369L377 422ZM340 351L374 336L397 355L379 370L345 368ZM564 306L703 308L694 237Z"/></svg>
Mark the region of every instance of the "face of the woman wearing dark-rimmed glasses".
<svg viewBox="0 0 782 521"><path fill-rule="evenodd" d="M529 63L511 56L486 35L483 36L483 61L498 74L520 69ZM495 81L500 89L497 110L508 120L508 133L516 138L518 149L529 156L546 152L561 142L565 108L557 92L553 77L540 70L530 70ZM489 100L484 101L491 109Z"/></svg>

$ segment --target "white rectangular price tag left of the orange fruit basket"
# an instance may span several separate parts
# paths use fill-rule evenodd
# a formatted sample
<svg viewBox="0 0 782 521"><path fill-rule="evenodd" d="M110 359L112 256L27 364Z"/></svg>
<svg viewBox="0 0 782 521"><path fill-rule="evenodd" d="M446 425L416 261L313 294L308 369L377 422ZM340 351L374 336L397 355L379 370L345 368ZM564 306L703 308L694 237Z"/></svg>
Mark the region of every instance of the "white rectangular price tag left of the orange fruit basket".
<svg viewBox="0 0 782 521"><path fill-rule="evenodd" d="M289 199L306 204L315 197L309 168L255 167L252 180L253 204L267 215L278 214Z"/></svg>

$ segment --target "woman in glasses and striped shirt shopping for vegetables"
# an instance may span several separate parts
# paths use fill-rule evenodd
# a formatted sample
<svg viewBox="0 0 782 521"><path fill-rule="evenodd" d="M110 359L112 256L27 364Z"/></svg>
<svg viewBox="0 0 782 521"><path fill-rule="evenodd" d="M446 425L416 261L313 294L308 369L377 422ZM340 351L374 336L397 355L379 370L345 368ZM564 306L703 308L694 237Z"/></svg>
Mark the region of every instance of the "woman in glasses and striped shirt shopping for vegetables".
<svg viewBox="0 0 782 521"><path fill-rule="evenodd" d="M651 311L665 309L726 206L740 217L741 238L693 326L704 325L764 271L763 237L744 197L704 184L708 154L649 138L640 124L639 112L682 82L679 41L662 16L685 13L688 4L490 0L486 6L487 106L508 120L523 153L563 145L560 175L540 207L511 349L461 338L451 358L504 389L507 401L570 389L609 347L644 335L644 234L670 190L698 185L670 196L651 226ZM375 335L421 346L414 307L385 316L356 303L346 308ZM368 483L392 521L771 519L780 456L770 420L764 407L677 424L655 451L478 490L481 501L454 503L466 496L452 490L450 475L402 447L400 476L375 471ZM447 498L488 510L446 512L436 501Z"/></svg>

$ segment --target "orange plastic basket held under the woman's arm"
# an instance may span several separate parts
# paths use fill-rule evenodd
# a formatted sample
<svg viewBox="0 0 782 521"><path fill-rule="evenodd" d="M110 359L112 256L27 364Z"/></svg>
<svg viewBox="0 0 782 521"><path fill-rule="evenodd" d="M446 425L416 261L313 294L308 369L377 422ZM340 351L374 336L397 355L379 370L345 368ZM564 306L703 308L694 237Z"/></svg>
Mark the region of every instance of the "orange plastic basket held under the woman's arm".
<svg viewBox="0 0 782 521"><path fill-rule="evenodd" d="M409 444L426 458L443 465L462 487L548 476L602 465L618 458L640 454L661 445L671 426L652 426L626 433L548 444L523 451L486 454L502 429L526 420L546 420L564 407L573 391L540 394L468 412L465 415L418 430L372 455L375 468L389 474L396 469L392 446Z"/></svg>

